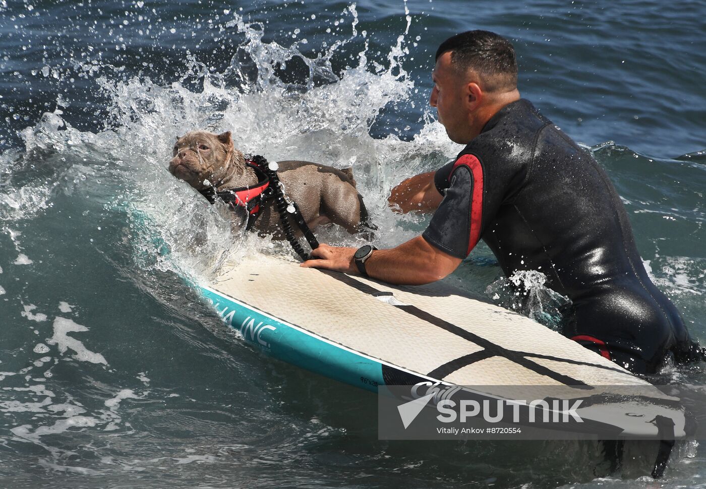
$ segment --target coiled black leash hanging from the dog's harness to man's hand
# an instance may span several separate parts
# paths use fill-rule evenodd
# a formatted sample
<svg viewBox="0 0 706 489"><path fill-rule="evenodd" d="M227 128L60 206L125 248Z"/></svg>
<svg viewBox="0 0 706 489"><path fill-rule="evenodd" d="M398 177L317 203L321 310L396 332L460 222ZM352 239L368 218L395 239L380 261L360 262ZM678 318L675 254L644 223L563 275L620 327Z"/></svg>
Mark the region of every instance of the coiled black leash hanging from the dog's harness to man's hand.
<svg viewBox="0 0 706 489"><path fill-rule="evenodd" d="M294 230L292 229L292 223L289 222L289 219L293 219L294 223L297 224L297 227L299 227L301 233L304 234L304 238L306 242L309 243L312 250L318 248L318 241L306 224L304 216L301 215L297 203L287 200L285 192L282 190L283 187L282 183L280 183L280 177L277 176L277 163L269 164L267 159L260 155L253 156L251 161L260 167L270 179L270 188L272 188L273 191L275 205L277 206L277 212L280 213L280 222L282 223L282 229L285 231L287 241L292 245L292 249L299 255L299 258L304 261L311 260L311 255L304 251L301 243L294 237Z"/></svg>

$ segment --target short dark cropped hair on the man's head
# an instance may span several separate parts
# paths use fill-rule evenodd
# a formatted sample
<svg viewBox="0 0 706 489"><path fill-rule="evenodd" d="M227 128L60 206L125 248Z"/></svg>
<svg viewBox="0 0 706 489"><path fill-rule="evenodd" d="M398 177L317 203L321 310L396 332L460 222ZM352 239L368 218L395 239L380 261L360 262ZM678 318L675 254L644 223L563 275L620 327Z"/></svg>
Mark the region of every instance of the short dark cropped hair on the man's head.
<svg viewBox="0 0 706 489"><path fill-rule="evenodd" d="M460 71L478 73L484 89L510 91L517 88L517 60L513 44L488 30L469 30L449 37L436 50L436 59L451 52L451 64Z"/></svg>

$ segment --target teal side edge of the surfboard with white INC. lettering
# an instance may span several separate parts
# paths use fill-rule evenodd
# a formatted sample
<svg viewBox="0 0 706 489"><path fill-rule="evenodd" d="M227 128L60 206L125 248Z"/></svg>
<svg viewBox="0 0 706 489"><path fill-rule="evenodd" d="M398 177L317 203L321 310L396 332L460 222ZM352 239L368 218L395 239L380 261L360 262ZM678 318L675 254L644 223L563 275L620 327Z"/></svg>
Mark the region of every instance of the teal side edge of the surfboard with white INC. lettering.
<svg viewBox="0 0 706 489"><path fill-rule="evenodd" d="M372 392L385 383L380 361L305 332L208 286L199 288L227 325L271 356Z"/></svg>

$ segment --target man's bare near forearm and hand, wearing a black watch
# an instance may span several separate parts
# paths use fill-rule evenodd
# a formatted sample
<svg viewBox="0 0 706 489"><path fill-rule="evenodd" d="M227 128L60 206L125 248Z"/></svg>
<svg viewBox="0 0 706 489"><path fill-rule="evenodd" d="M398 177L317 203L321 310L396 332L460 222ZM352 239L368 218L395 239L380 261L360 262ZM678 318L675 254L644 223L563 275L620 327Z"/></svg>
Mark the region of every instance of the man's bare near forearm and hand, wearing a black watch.
<svg viewBox="0 0 706 489"><path fill-rule="evenodd" d="M321 244L311 252L320 259L307 260L301 266L357 274L353 258L355 251L356 248ZM443 279L456 270L461 261L461 258L449 255L417 236L395 248L373 251L365 262L365 269L369 277L390 284L421 285Z"/></svg>

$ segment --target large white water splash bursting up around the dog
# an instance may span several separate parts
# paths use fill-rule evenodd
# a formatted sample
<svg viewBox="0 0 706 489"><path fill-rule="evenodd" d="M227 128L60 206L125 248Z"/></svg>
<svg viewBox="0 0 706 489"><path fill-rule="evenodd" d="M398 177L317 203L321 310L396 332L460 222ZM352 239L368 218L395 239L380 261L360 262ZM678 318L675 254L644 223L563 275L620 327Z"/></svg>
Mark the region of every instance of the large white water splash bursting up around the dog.
<svg viewBox="0 0 706 489"><path fill-rule="evenodd" d="M113 204L129 203L126 212L140 243L136 255L145 267L164 265L181 273L188 271L191 276L213 276L255 244L249 236L232 234L222 212L205 205L200 196L164 171L172 140L195 128L230 130L240 150L268 159L305 159L338 168L353 167L359 191L378 227L384 229L381 239L396 244L409 234L391 232L399 231L398 218L379 196L387 195L400 180L400 171L411 175L439 166L457 146L448 142L433 121L409 143L394 136L371 138L369 129L378 114L389 104L405 102L414 87L402 67L408 53L405 34L390 48L388 66L381 66L366 56L367 33L357 30L356 6L347 7L342 15L351 18L349 37L322 46L313 55L299 51L306 40L289 46L263 42L265 26L246 23L235 13L225 28L237 30L244 41L223 73L215 73L189 56L181 79L169 86L157 85L149 78L99 78L111 113L109 130L99 137L124 148L121 162L130 161L125 170L142 177L136 179L122 171L121 178L131 181L130 186L124 186L124 193ZM410 23L407 15L405 33ZM335 73L331 65L335 52L361 37L364 49L357 64ZM304 82L287 83L281 78L294 60L302 61L308 70ZM418 222L419 218L404 220ZM321 234L333 243L352 240L336 229L322 229ZM255 247L287 252L276 244L258 243ZM171 265L159 259L143 260L160 255L162 250L169 250Z"/></svg>

